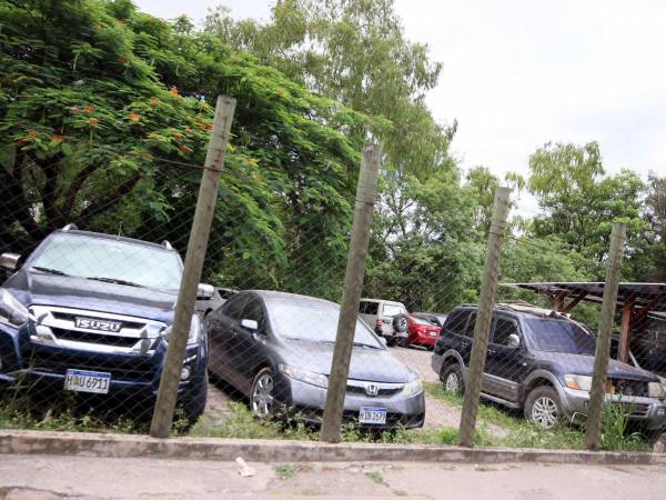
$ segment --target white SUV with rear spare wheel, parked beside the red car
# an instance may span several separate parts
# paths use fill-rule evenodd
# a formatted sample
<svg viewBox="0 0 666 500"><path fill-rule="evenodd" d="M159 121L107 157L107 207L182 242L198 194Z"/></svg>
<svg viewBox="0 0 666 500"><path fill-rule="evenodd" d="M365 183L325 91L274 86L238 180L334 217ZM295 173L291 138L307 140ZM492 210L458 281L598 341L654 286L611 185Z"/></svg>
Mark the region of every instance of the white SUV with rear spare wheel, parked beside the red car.
<svg viewBox="0 0 666 500"><path fill-rule="evenodd" d="M380 299L361 299L361 318L374 328L376 334L386 339L389 346L410 344L407 308L402 302Z"/></svg>

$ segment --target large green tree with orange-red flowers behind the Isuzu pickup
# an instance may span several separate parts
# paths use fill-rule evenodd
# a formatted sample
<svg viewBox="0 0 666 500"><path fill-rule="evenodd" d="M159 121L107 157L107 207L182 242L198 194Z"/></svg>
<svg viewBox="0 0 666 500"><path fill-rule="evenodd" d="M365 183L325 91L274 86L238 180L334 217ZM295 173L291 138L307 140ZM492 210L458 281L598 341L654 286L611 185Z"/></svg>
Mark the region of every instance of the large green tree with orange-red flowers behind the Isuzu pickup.
<svg viewBox="0 0 666 500"><path fill-rule="evenodd" d="M208 274L290 288L324 268L321 287L336 282L362 144L350 130L382 120L129 0L0 3L0 44L4 244L75 222L183 251L224 93L239 106Z"/></svg>

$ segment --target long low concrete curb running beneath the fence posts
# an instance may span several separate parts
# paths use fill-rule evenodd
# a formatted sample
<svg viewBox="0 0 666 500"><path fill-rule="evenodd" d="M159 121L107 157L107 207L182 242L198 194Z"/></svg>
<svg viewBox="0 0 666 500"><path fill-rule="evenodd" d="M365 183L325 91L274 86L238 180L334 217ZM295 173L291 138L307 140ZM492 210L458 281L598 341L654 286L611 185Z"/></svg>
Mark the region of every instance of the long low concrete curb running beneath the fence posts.
<svg viewBox="0 0 666 500"><path fill-rule="evenodd" d="M591 452L430 444L327 444L215 438L153 439L82 432L0 431L0 453L114 458L165 458L256 462L542 462L666 466L665 453Z"/></svg>

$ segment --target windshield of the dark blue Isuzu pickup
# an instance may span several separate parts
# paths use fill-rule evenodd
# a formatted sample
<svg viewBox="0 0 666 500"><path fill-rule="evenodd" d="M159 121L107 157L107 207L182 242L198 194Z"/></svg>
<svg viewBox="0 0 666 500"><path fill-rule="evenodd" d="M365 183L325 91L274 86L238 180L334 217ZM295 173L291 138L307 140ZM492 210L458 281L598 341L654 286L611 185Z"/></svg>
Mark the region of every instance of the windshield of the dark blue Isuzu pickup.
<svg viewBox="0 0 666 500"><path fill-rule="evenodd" d="M178 290L182 273L181 261L173 251L82 234L54 234L31 268L38 272L162 290Z"/></svg>

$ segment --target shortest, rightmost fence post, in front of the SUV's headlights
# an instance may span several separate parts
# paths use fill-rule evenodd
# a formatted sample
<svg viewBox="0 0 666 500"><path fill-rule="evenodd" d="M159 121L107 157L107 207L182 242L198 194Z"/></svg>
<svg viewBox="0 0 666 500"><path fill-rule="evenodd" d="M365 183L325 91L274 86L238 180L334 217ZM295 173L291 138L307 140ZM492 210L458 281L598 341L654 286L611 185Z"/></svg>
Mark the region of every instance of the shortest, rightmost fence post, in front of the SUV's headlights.
<svg viewBox="0 0 666 500"><path fill-rule="evenodd" d="M594 377L592 378L587 424L585 428L585 447L588 450L598 450L602 436L606 377L608 376L608 358L610 357L610 337L613 334L615 308L617 304L617 289L619 286L626 231L626 223L615 222L610 232L610 249L606 264L606 282L604 283L604 299L602 302L594 359Z"/></svg>

